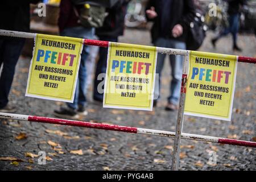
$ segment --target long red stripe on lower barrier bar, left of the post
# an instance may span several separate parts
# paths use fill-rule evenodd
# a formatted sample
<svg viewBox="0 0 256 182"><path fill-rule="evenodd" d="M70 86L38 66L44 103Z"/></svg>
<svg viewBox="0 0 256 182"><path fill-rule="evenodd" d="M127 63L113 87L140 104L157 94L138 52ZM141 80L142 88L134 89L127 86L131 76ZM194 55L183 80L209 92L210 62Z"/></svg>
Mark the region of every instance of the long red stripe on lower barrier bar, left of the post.
<svg viewBox="0 0 256 182"><path fill-rule="evenodd" d="M101 130L123 131L127 133L137 133L136 127L109 125L109 124L102 124L102 123L90 123L90 122L83 122L83 121L72 121L67 119L29 116L28 121L35 121L40 123L51 123L51 124L57 124L57 125L89 127L89 128L101 129Z"/></svg>

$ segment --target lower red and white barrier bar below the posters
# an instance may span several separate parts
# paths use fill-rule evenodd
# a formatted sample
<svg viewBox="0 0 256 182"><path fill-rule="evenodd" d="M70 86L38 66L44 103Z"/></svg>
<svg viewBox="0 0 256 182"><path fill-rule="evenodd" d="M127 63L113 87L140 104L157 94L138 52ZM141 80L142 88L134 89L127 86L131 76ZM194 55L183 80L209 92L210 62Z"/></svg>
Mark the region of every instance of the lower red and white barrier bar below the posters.
<svg viewBox="0 0 256 182"><path fill-rule="evenodd" d="M32 115L0 113L0 118L17 119L21 121L31 121L31 122L40 122L40 123L51 123L51 124L57 124L57 125L87 127L87 128L100 129L100 130L122 131L126 133L134 133L134 134L156 135L159 137L175 137L175 132L171 132L171 131L142 129L138 127L109 125L109 124L103 124L103 123L90 123L85 121L73 121L68 119L47 118L47 117L38 117L38 116L32 116ZM182 133L181 138L190 139L190 140L200 140L203 142L231 144L235 146L245 146L245 147L256 148L256 142L250 142L245 140L210 137L210 136L187 134L187 133Z"/></svg>

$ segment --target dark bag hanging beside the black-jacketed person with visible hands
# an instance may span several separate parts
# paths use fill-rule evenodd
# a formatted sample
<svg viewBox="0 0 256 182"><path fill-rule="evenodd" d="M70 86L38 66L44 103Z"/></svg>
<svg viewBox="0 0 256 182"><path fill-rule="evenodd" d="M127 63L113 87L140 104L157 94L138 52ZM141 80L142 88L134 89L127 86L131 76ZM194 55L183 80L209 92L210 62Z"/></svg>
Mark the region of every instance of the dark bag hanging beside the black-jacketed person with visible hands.
<svg viewBox="0 0 256 182"><path fill-rule="evenodd" d="M204 16L196 13L188 27L186 46L188 50L196 51L203 44L207 26L204 24Z"/></svg>

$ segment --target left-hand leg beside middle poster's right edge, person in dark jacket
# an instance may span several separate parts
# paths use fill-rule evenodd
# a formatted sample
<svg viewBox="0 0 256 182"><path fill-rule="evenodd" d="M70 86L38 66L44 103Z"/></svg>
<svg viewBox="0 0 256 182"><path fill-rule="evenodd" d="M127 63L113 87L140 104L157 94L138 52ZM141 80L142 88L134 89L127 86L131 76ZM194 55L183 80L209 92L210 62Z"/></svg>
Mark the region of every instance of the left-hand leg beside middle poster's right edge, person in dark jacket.
<svg viewBox="0 0 256 182"><path fill-rule="evenodd" d="M167 40L163 38L158 38L155 42L156 47L166 47ZM156 62L156 80L155 80L155 90L154 90L154 100L156 105L156 101L160 98L160 85L161 85L161 73L164 65L164 59L166 57L166 54L164 53L158 53L158 60Z"/></svg>

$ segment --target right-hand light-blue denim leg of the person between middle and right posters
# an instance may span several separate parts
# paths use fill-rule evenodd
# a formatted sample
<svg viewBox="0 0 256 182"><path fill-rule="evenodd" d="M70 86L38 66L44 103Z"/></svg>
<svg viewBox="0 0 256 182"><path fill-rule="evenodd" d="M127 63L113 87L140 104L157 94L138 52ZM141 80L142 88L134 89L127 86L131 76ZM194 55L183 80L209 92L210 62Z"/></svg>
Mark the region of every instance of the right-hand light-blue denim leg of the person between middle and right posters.
<svg viewBox="0 0 256 182"><path fill-rule="evenodd" d="M170 40L170 47L175 49L186 49L184 42L179 42L175 40ZM182 78L182 71L183 71L183 62L184 62L183 56L170 55L172 81L170 86L170 96L168 97L168 102L176 106L179 104L179 98L180 98L180 86L181 86L181 78Z"/></svg>

